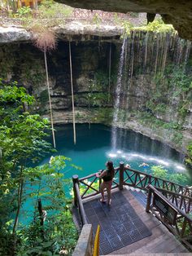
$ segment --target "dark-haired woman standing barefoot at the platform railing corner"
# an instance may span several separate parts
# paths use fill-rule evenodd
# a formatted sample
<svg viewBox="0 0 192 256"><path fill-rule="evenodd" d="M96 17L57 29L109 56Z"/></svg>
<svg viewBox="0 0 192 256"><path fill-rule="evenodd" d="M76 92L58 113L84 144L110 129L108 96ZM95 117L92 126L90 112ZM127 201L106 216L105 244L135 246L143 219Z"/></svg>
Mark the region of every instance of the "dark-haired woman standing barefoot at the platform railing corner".
<svg viewBox="0 0 192 256"><path fill-rule="evenodd" d="M113 162L112 161L107 161L106 163L107 170L103 170L103 172L98 172L96 176L98 178L103 179L103 183L101 184L101 202L105 202L105 196L104 196L104 190L105 188L107 189L107 204L111 205L111 186L112 186L112 180L114 178L115 170L113 167Z"/></svg>

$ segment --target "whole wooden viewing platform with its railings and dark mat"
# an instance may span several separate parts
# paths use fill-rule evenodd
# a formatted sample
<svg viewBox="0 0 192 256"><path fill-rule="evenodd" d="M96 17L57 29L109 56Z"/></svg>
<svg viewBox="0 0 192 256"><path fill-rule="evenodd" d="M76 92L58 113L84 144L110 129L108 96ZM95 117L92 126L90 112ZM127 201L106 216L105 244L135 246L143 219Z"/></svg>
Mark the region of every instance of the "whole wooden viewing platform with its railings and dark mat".
<svg viewBox="0 0 192 256"><path fill-rule="evenodd" d="M92 254L81 249L91 250L98 225L99 242L94 248L98 246L99 255L192 255L190 188L131 170L123 163L116 168L111 205L99 201L101 180L95 174L82 179L74 175L73 183L83 233L74 256Z"/></svg>

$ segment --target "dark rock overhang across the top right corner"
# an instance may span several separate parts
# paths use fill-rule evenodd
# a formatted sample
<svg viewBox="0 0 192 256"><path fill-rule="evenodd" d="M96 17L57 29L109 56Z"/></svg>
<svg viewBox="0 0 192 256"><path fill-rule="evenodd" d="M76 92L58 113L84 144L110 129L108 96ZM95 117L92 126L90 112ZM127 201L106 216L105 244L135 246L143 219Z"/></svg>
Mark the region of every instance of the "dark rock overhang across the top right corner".
<svg viewBox="0 0 192 256"><path fill-rule="evenodd" d="M192 1L190 0L55 0L71 7L126 13L147 12L160 14L172 24L181 38L192 39Z"/></svg>

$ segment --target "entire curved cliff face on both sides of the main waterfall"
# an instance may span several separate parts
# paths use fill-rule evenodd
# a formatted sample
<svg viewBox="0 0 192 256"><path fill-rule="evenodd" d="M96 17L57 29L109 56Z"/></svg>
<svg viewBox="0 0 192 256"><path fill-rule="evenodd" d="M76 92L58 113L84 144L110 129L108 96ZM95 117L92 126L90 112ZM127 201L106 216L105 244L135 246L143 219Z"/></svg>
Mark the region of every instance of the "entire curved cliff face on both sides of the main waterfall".
<svg viewBox="0 0 192 256"><path fill-rule="evenodd" d="M69 42L61 33L62 37L57 49L47 55L55 124L72 122ZM76 121L111 124L122 40L93 35L71 39ZM190 43L166 35L132 33L124 55L115 125L185 152L192 139ZM7 82L25 86L37 98L36 111L49 116L43 54L32 42L3 43L0 73Z"/></svg>

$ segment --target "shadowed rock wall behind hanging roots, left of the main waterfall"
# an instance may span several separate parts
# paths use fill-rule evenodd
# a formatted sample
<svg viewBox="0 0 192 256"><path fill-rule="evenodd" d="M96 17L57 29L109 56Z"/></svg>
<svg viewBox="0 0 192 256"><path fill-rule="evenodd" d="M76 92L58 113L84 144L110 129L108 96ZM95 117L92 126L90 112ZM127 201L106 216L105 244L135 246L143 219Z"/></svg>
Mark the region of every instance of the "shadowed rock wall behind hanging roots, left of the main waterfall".
<svg viewBox="0 0 192 256"><path fill-rule="evenodd" d="M116 73L119 43L91 40L71 42L71 46L76 121L109 123L113 105L108 89L109 51L111 47L111 73ZM47 54L47 63L55 124L72 122L69 42L59 41L57 50ZM31 42L2 44L0 73L3 80L25 86L37 99L37 111L49 116L44 56Z"/></svg>

